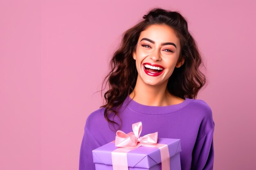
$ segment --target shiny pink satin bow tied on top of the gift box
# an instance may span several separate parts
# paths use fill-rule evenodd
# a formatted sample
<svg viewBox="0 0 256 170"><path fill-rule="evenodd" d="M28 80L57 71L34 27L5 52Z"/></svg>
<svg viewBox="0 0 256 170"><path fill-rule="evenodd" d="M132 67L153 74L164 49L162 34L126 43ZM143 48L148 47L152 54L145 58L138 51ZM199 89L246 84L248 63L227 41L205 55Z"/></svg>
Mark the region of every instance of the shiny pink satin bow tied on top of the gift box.
<svg viewBox="0 0 256 170"><path fill-rule="evenodd" d="M133 132L126 134L121 130L117 130L115 146L128 148L128 147L137 146L138 142L141 144L157 144L158 132L150 133L148 135L139 137L142 131L141 121L135 124L132 124L132 131Z"/></svg>

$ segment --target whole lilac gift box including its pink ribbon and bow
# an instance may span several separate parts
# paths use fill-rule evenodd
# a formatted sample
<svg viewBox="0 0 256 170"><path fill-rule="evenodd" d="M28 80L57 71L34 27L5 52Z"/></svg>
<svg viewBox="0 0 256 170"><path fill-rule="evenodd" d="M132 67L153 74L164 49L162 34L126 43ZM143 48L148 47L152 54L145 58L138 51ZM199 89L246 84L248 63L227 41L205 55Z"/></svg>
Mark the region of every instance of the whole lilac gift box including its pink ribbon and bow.
<svg viewBox="0 0 256 170"><path fill-rule="evenodd" d="M180 139L170 139L170 138L158 138L157 132L154 134L148 134L144 137L139 137L142 130L141 122L133 124L133 132L125 134L121 130L121 142L117 144L120 137L116 136L116 140L111 141L108 144L100 146L97 149L92 150L93 162L95 164L96 170L181 170L180 165ZM139 129L139 130L138 130ZM117 132L117 134L118 134ZM155 135L150 138L149 136ZM129 141L128 141L129 140ZM148 140L148 141L146 141ZM157 141L153 144L153 140ZM148 143L146 143L148 142ZM126 144L124 144L126 143ZM132 144L131 144L132 143ZM162 145L163 144L163 145ZM124 148L122 148L122 145ZM141 146L142 145L142 146ZM166 146L166 150L155 147L156 145ZM121 147L119 147L121 146ZM149 147L150 146L150 147ZM116 155L115 163L123 161L124 157L127 159L124 167L113 166L113 151L125 149L126 153L123 155ZM165 152L165 153L164 153ZM168 157L164 157L166 154ZM119 153L118 153L119 154ZM168 159L168 160L166 160ZM162 166L162 161L164 161L164 166ZM167 166L166 166L167 163ZM169 164L169 165L168 165ZM126 168L127 166L127 168ZM114 167L114 168L113 168Z"/></svg>

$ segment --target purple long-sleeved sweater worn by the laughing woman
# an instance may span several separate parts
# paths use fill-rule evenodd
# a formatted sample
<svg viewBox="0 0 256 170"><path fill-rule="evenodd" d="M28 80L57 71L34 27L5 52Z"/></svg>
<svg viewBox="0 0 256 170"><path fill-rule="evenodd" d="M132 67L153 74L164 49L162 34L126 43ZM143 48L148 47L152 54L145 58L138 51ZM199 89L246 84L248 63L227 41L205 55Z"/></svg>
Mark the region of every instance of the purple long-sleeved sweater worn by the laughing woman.
<svg viewBox="0 0 256 170"><path fill-rule="evenodd" d="M110 130L113 126L109 128L104 110L95 110L86 120L79 170L95 170L92 150L115 140L116 133ZM214 121L211 108L203 100L185 98L182 103L171 106L146 106L128 95L119 117L122 120L120 130L125 133L132 132L132 124L141 121L140 136L158 132L158 137L180 139L182 170L213 170ZM121 123L117 116L112 116L113 119Z"/></svg>

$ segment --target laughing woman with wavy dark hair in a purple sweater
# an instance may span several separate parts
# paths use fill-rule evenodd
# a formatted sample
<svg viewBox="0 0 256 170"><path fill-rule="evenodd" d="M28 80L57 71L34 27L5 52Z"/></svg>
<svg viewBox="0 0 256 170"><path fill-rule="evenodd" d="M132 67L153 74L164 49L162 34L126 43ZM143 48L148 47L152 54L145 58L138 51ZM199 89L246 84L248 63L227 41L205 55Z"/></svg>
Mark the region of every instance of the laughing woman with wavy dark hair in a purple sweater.
<svg viewBox="0 0 256 170"><path fill-rule="evenodd" d="M92 150L115 140L117 130L132 131L139 121L140 136L158 132L180 139L182 170L212 170L214 121L209 105L195 99L206 79L187 22L161 8L143 18L124 33L112 57L107 103L87 118L79 170L95 169Z"/></svg>

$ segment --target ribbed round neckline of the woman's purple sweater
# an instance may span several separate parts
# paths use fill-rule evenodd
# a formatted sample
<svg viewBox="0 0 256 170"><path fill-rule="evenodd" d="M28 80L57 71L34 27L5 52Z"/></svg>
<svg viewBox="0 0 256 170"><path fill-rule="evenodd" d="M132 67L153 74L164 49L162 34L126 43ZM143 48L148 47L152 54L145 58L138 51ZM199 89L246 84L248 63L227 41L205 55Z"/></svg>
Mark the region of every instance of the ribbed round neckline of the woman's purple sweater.
<svg viewBox="0 0 256 170"><path fill-rule="evenodd" d="M192 102L194 99L186 98L182 103L179 104L173 104L169 106L148 106L144 104L140 104L138 102L135 102L130 95L127 95L126 99L124 100L124 105L128 106L128 108L144 114L150 114L150 115L164 115L168 113L176 112L182 108L184 108L186 105L188 105L190 102Z"/></svg>

